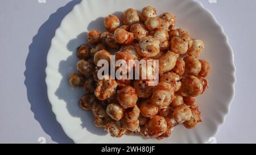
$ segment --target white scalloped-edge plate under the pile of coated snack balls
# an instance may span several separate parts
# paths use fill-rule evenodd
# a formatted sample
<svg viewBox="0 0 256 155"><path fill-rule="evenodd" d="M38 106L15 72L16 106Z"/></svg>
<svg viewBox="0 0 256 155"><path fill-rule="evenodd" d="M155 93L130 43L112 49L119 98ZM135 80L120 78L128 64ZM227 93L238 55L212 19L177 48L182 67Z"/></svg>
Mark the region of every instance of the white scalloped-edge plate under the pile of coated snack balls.
<svg viewBox="0 0 256 155"><path fill-rule="evenodd" d="M197 98L203 122L196 128L175 128L171 137L162 141L138 136L111 137L93 124L91 112L77 105L84 91L72 89L68 76L76 72L76 48L86 41L86 31L104 30L104 16L121 15L129 7L141 10L153 6L158 14L164 11L176 15L177 26L185 28L192 37L201 39L205 49L200 58L210 63L209 89ZM118 1L84 0L63 19L52 39L47 56L46 83L48 98L57 121L75 143L205 143L218 131L228 114L234 97L235 66L228 37L214 16L199 2L180 0Z"/></svg>

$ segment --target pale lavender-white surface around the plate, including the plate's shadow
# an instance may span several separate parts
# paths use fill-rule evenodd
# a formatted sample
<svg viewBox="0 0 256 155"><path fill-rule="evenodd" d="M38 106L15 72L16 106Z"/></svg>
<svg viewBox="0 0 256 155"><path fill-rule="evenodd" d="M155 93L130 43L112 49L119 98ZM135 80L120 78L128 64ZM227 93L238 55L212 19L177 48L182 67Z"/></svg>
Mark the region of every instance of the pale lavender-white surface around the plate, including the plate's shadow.
<svg viewBox="0 0 256 155"><path fill-rule="evenodd" d="M45 76L43 70L46 65L45 53L49 48L48 40L53 37L52 29L58 27L61 18L77 3L73 1L65 6L68 2L68 0L47 1L45 4L32 0L0 2L1 143L38 143L39 137L45 137L46 143L72 142L56 123L54 115L48 112L51 107L48 106L46 87L42 78ZM236 96L225 123L216 135L217 143L255 143L256 84L253 78L256 70L253 62L256 56L254 52L256 1L217 0L216 4L204 0L199 2L212 11L224 27L234 51L237 67ZM56 12L61 6L65 7ZM54 12L56 13L53 14ZM53 15L48 20L51 14ZM33 36L35 38L32 43ZM33 74L35 70L40 72ZM24 85L25 79L32 84ZM43 90L40 87L43 87Z"/></svg>

